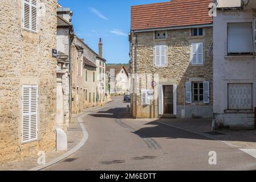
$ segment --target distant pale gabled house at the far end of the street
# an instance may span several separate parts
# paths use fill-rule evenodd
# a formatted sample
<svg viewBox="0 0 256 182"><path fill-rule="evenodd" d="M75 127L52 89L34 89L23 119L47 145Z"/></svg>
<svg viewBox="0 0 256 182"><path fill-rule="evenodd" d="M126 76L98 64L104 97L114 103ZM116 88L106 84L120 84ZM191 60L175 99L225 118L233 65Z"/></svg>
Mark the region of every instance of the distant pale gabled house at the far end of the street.
<svg viewBox="0 0 256 182"><path fill-rule="evenodd" d="M129 93L129 71L124 65L107 65L106 73L108 75L111 94Z"/></svg>

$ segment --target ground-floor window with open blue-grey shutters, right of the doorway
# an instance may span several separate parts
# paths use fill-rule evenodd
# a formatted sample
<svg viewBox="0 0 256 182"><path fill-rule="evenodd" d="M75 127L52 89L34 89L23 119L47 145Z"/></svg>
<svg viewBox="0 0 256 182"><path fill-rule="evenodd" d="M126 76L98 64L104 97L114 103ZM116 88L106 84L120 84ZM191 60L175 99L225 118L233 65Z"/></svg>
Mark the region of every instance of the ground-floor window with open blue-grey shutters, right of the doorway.
<svg viewBox="0 0 256 182"><path fill-rule="evenodd" d="M210 103L210 83L204 82L186 82L186 103L204 102ZM193 99L192 99L193 98Z"/></svg>

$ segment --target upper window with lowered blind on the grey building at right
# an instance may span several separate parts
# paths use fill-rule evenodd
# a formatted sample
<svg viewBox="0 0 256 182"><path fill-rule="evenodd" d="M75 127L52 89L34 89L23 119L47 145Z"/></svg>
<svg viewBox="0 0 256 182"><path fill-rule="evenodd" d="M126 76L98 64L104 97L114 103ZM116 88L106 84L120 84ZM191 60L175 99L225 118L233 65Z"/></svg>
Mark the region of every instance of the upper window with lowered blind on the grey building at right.
<svg viewBox="0 0 256 182"><path fill-rule="evenodd" d="M228 55L244 55L253 52L251 23L227 23Z"/></svg>

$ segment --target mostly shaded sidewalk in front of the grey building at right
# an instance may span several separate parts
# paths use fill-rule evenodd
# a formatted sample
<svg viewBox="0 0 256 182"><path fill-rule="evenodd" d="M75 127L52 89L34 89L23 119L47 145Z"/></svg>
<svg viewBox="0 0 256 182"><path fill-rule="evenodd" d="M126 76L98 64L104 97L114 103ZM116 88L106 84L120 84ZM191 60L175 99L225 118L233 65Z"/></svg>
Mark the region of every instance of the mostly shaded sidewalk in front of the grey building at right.
<svg viewBox="0 0 256 182"><path fill-rule="evenodd" d="M157 119L155 121L193 131L237 147L256 148L256 130L212 131L212 119Z"/></svg>

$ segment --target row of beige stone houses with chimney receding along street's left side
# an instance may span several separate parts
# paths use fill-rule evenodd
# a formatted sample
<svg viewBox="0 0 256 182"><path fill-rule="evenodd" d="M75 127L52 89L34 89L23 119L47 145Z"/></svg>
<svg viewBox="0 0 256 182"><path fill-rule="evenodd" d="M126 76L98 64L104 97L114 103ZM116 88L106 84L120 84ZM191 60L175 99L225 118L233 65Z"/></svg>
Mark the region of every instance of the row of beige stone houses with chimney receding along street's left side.
<svg viewBox="0 0 256 182"><path fill-rule="evenodd" d="M105 59L87 46L83 39L75 36L72 65L72 113L79 113L84 107L103 104L103 101L97 100L104 94L101 80L105 79Z"/></svg>

